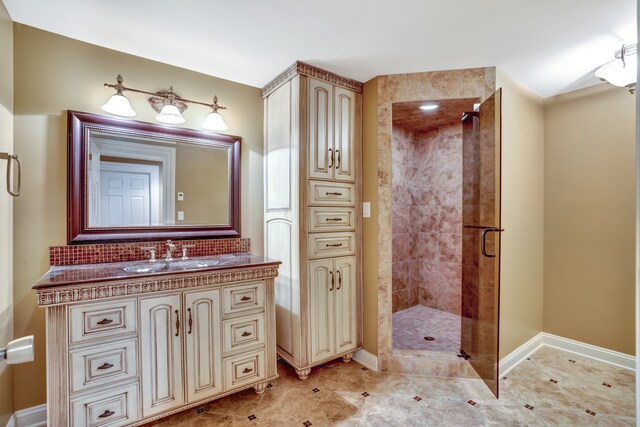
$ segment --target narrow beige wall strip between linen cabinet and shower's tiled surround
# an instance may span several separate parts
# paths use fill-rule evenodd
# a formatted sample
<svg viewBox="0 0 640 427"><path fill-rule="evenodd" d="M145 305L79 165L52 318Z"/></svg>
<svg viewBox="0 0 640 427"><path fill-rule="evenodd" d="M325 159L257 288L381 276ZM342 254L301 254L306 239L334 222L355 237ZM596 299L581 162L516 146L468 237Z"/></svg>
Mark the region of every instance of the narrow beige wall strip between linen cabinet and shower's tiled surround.
<svg viewBox="0 0 640 427"><path fill-rule="evenodd" d="M363 219L364 349L378 354L378 78L362 91L362 200L371 203Z"/></svg>

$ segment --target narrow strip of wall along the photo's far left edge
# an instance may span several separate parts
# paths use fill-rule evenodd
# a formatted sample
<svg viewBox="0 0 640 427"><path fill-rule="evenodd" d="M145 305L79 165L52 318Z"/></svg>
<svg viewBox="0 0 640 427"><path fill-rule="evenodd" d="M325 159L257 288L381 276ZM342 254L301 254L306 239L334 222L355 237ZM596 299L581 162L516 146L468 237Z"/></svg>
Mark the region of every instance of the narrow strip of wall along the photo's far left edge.
<svg viewBox="0 0 640 427"><path fill-rule="evenodd" d="M13 25L0 1L0 152L13 153ZM13 201L0 160L0 347L13 337ZM13 413L12 369L0 363L0 425Z"/></svg>

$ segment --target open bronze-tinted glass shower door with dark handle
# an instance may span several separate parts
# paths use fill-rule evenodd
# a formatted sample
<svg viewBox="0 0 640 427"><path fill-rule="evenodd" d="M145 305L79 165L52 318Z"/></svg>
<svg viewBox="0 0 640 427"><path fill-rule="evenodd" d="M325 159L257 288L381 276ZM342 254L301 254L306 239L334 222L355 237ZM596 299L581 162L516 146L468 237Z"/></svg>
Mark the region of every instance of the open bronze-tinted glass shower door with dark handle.
<svg viewBox="0 0 640 427"><path fill-rule="evenodd" d="M465 113L460 356L498 397L502 89Z"/></svg>

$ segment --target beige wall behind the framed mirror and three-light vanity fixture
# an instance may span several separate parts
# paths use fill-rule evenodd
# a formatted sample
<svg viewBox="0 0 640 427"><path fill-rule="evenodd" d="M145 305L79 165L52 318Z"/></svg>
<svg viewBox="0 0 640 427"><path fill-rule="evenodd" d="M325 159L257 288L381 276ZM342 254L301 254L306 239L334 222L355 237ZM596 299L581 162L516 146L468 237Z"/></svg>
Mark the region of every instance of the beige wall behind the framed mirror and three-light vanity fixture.
<svg viewBox="0 0 640 427"><path fill-rule="evenodd" d="M6 40L2 38L2 40ZM4 52L4 50L3 50ZM48 268L48 246L66 243L66 111L101 113L118 73L131 87L173 85L183 97L207 101L214 94L228 107L228 133L242 143L242 235L262 253L262 96L257 88L100 48L14 24L15 150L23 159L23 196L15 202L14 303L17 336L34 334L36 362L17 365L15 409L45 402L44 310L32 283ZM138 120L154 121L142 95L131 94ZM190 107L187 127L199 128L207 108Z"/></svg>

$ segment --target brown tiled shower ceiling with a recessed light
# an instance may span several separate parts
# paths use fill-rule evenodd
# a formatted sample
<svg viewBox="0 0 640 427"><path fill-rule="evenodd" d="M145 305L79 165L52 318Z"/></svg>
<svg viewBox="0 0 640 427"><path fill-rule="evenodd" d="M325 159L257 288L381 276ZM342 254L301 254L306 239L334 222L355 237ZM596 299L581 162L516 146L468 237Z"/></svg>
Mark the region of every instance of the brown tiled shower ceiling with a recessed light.
<svg viewBox="0 0 640 427"><path fill-rule="evenodd" d="M393 104L393 125L415 132L448 125L462 120L462 113L473 111L473 104L480 102L478 98L443 99L439 101L399 102ZM423 111L421 105L437 105L432 111Z"/></svg>

